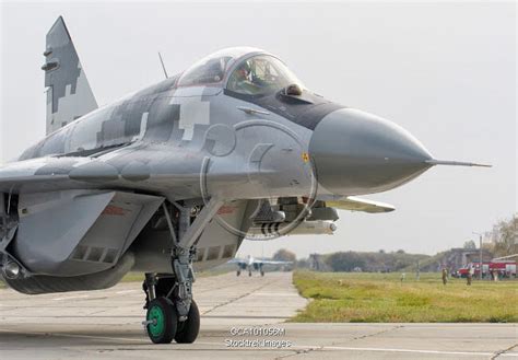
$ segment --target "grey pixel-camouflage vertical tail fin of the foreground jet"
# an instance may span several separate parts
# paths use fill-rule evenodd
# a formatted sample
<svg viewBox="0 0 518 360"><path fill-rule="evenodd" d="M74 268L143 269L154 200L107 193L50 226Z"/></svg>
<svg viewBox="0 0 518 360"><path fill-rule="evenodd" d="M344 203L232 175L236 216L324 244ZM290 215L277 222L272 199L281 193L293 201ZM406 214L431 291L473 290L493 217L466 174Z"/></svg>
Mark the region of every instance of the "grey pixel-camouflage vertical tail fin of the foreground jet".
<svg viewBox="0 0 518 360"><path fill-rule="evenodd" d="M97 108L63 18L47 33L44 53L47 88L47 135Z"/></svg>

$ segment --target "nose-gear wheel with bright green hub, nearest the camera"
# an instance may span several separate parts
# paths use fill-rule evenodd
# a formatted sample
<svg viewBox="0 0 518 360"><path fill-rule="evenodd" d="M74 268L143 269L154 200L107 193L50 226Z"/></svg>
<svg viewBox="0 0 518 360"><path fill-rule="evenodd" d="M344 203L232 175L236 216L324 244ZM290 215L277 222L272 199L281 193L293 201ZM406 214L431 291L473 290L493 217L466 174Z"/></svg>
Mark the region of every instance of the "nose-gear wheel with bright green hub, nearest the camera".
<svg viewBox="0 0 518 360"><path fill-rule="evenodd" d="M148 305L145 329L154 344L169 344L176 335L178 316L173 303L166 298L156 298Z"/></svg>

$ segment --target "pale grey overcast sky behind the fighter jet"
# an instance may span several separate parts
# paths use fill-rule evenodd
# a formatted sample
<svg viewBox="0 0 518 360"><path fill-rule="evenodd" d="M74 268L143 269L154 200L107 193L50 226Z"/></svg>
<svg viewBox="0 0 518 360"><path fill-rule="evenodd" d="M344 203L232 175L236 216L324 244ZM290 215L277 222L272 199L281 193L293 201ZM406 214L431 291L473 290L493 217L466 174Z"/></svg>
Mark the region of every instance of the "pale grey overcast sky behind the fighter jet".
<svg viewBox="0 0 518 360"><path fill-rule="evenodd" d="M240 255L285 247L434 254L516 212L516 4L507 3L3 3L0 162L45 133L45 34L63 15L99 104L223 47L280 56L313 91L407 128L435 167L369 198L388 214L341 211L333 236L245 242Z"/></svg>

